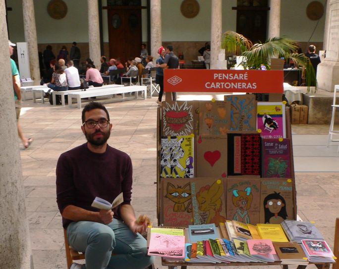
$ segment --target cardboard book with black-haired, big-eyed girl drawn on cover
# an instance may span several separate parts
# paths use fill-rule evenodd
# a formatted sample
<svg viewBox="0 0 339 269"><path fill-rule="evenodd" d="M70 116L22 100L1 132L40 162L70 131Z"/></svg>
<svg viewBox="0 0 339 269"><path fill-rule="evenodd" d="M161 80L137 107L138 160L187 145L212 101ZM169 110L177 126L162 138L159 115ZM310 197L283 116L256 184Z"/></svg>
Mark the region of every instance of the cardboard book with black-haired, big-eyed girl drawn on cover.
<svg viewBox="0 0 339 269"><path fill-rule="evenodd" d="M293 219L293 183L286 178L262 178L260 223L279 224Z"/></svg>

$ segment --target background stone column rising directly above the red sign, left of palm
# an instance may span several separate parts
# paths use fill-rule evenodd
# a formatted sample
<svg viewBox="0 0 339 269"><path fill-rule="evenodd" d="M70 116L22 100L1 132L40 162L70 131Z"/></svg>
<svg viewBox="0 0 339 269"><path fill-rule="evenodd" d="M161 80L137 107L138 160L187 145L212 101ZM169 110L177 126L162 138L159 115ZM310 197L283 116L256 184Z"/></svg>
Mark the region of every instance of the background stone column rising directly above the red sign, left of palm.
<svg viewBox="0 0 339 269"><path fill-rule="evenodd" d="M222 0L212 0L211 69L217 68L222 39Z"/></svg>

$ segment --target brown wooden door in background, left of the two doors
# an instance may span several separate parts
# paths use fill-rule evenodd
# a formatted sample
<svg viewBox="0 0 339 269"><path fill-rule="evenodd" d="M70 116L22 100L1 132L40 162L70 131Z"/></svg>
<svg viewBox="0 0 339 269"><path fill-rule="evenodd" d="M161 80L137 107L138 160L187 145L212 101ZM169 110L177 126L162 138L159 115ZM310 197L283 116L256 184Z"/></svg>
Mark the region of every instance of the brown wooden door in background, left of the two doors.
<svg viewBox="0 0 339 269"><path fill-rule="evenodd" d="M139 57L142 42L141 7L111 7L108 10L110 58Z"/></svg>

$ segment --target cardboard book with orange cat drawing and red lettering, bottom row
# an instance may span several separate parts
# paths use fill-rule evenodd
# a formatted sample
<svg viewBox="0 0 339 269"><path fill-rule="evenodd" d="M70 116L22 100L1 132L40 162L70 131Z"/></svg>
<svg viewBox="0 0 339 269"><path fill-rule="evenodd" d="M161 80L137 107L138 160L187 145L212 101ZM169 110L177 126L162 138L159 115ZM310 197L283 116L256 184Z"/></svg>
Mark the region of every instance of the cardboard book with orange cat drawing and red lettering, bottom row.
<svg viewBox="0 0 339 269"><path fill-rule="evenodd" d="M162 178L164 226L187 227L193 223L190 179Z"/></svg>

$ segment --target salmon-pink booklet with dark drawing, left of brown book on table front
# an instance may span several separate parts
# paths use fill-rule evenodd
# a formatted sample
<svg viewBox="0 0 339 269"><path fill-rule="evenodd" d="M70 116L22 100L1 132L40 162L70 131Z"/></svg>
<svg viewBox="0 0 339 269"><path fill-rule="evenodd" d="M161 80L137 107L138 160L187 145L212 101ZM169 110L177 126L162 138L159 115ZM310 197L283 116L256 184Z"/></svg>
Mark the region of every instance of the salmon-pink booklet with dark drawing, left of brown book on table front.
<svg viewBox="0 0 339 269"><path fill-rule="evenodd" d="M269 239L249 239L247 245L251 256L265 262L278 260L273 243Z"/></svg>

